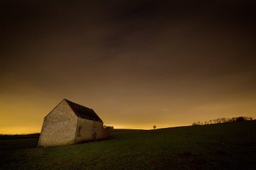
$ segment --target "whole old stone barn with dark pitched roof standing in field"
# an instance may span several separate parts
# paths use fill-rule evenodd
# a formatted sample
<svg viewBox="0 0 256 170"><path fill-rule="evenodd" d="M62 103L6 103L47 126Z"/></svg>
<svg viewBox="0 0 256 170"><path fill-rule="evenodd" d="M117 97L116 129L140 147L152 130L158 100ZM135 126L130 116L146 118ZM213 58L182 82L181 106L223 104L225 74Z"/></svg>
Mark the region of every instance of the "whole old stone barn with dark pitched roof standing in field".
<svg viewBox="0 0 256 170"><path fill-rule="evenodd" d="M58 146L105 137L103 122L90 108L63 99L45 118L38 146Z"/></svg>

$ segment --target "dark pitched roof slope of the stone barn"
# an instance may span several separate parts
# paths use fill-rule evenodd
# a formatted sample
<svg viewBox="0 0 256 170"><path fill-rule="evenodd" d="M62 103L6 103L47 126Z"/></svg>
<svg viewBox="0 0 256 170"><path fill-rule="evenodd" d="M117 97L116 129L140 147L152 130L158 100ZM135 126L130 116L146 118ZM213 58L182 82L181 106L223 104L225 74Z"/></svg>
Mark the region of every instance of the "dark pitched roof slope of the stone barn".
<svg viewBox="0 0 256 170"><path fill-rule="evenodd" d="M86 108L80 104L76 104L72 101L68 101L67 99L64 99L70 108L74 111L77 117L79 118L85 118L88 120L93 120L96 122L102 122L102 120L98 117L98 115L90 108ZM102 122L103 123L103 122Z"/></svg>

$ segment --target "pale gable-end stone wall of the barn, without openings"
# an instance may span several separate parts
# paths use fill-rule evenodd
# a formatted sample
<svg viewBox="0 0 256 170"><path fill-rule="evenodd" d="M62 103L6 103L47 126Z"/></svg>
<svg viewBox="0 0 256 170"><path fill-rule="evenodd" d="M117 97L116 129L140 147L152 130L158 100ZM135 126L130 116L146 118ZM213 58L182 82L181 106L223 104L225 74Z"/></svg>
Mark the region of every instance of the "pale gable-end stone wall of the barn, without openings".
<svg viewBox="0 0 256 170"><path fill-rule="evenodd" d="M65 100L44 118L38 146L68 145L75 142L77 116Z"/></svg>

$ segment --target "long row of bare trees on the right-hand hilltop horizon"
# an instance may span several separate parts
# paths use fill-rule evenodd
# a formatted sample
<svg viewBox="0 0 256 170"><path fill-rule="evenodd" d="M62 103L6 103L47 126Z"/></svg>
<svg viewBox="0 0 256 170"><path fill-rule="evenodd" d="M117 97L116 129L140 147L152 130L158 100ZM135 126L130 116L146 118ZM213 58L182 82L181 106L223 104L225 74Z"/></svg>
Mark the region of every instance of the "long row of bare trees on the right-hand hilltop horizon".
<svg viewBox="0 0 256 170"><path fill-rule="evenodd" d="M192 125L209 125L209 124L223 124L228 122L244 122L253 120L252 117L233 117L233 118L216 118L214 120L209 120L208 122L194 122Z"/></svg>

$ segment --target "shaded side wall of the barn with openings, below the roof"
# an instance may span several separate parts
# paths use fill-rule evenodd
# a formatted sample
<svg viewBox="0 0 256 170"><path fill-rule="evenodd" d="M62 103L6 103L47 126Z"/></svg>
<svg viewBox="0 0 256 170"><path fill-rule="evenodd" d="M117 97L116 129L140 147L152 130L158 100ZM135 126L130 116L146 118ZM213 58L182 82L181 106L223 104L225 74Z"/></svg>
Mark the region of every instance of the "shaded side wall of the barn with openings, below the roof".
<svg viewBox="0 0 256 170"><path fill-rule="evenodd" d="M105 138L103 123L77 118L76 143Z"/></svg>

